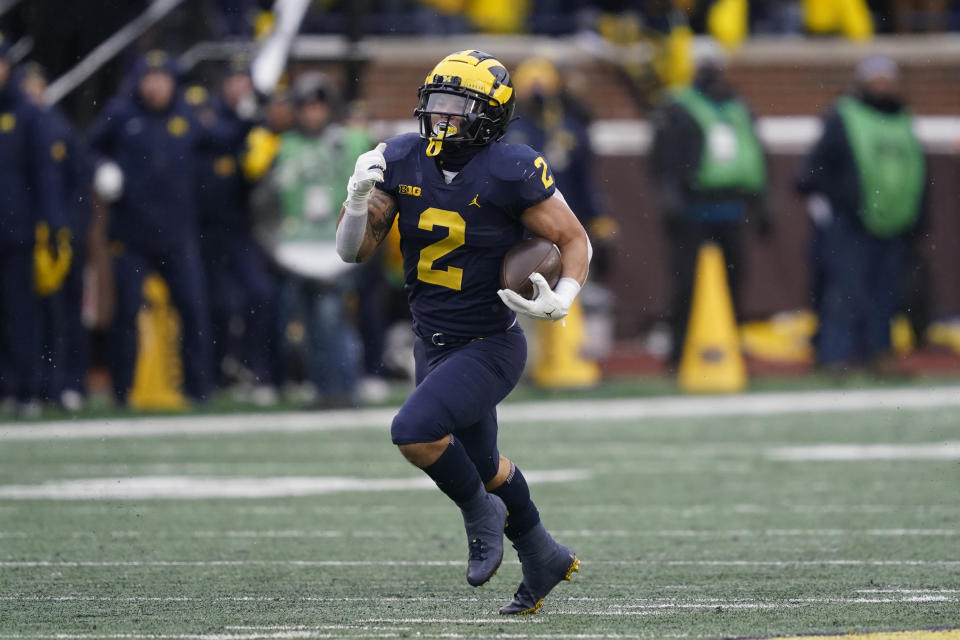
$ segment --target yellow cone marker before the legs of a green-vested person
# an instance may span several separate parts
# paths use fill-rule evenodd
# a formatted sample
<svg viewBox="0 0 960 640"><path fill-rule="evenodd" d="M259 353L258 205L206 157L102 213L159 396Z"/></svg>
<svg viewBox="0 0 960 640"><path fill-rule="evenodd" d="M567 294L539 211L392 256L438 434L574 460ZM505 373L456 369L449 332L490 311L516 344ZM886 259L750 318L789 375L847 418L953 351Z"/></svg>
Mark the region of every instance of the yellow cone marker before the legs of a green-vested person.
<svg viewBox="0 0 960 640"><path fill-rule="evenodd" d="M730 300L723 252L712 242L700 248L693 304L678 382L688 393L736 393L747 386L737 322Z"/></svg>

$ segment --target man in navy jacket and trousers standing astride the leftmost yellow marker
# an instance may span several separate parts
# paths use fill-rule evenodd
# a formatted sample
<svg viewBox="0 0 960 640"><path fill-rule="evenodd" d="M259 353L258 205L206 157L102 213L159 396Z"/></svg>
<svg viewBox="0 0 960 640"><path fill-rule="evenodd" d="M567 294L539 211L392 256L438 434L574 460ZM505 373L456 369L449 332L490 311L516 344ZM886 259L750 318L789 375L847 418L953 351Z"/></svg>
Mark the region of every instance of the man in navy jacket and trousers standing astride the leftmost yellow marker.
<svg viewBox="0 0 960 640"><path fill-rule="evenodd" d="M92 150L105 160L97 169L95 186L105 199L114 200L108 231L116 281L111 369L121 404L133 384L136 318L143 280L152 271L166 280L180 314L186 394L202 402L211 389L212 335L197 225L197 155L204 148L230 148L246 127L203 126L176 87L177 72L169 56L147 53L136 63L127 91L107 105L90 132Z"/></svg>

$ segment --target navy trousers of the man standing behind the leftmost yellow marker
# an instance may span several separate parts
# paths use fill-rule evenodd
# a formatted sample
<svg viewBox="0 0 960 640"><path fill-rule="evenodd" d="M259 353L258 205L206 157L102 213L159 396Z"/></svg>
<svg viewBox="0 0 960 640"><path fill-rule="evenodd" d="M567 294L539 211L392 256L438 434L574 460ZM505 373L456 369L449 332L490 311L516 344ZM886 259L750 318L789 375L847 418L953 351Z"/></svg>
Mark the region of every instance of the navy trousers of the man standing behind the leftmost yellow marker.
<svg viewBox="0 0 960 640"><path fill-rule="evenodd" d="M137 361L137 314L143 302L143 280L156 271L166 281L180 314L184 387L193 400L206 400L211 387L211 330L203 261L195 244L170 253L126 248L113 261L117 307L110 329L113 391L123 404L133 387Z"/></svg>

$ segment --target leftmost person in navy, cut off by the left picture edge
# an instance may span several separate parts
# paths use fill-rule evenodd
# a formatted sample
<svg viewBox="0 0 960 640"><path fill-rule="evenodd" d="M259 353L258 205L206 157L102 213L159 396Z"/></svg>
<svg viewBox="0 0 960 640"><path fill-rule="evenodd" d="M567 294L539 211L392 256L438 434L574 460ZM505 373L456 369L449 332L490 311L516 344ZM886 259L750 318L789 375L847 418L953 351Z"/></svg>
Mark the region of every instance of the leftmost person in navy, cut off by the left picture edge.
<svg viewBox="0 0 960 640"><path fill-rule="evenodd" d="M13 80L0 35L0 387L21 414L40 412L41 299L69 268L60 147L43 110Z"/></svg>

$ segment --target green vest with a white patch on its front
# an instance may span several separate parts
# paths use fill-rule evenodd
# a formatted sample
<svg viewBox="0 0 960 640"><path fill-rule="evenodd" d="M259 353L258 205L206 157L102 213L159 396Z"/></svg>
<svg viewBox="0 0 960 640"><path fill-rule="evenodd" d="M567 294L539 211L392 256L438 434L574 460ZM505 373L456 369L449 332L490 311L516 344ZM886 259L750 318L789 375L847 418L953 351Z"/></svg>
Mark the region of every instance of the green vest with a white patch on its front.
<svg viewBox="0 0 960 640"><path fill-rule="evenodd" d="M743 103L727 100L717 104L692 87L672 95L703 131L700 167L690 186L698 191L762 191L767 183L763 149Z"/></svg>

